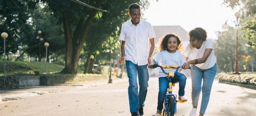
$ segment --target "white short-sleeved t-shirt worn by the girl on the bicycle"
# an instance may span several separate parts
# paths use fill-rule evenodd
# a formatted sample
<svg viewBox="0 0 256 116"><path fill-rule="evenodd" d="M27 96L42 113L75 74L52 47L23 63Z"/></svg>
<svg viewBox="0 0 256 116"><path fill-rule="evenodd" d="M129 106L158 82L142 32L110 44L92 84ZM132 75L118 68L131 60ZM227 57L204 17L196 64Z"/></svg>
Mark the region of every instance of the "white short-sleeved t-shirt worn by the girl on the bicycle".
<svg viewBox="0 0 256 116"><path fill-rule="evenodd" d="M153 59L159 63L159 65L178 65L181 66L186 62L183 54L176 50L175 53L170 53L167 50L162 50L157 53ZM176 69L166 69L166 72L174 72ZM159 76L158 77L166 77L167 75L163 73L163 71L159 68Z"/></svg>

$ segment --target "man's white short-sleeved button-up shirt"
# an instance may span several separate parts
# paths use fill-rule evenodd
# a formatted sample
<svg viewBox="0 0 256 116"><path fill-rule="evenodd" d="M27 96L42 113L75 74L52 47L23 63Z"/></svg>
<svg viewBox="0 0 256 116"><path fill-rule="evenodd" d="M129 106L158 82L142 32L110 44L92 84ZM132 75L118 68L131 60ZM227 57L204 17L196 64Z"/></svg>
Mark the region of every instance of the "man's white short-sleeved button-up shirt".
<svg viewBox="0 0 256 116"><path fill-rule="evenodd" d="M129 20L122 25L119 39L125 43L125 60L138 66L148 64L149 39L155 38L151 24L140 19L137 26Z"/></svg>

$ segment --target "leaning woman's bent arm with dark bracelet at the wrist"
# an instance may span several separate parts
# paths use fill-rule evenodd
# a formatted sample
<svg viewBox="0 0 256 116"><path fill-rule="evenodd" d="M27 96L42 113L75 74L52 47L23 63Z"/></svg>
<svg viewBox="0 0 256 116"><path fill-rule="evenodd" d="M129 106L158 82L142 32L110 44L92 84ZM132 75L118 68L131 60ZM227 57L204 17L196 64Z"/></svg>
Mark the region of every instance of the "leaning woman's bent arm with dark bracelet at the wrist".
<svg viewBox="0 0 256 116"><path fill-rule="evenodd" d="M197 59L197 64L205 63L205 61L207 60L207 58L211 54L211 51L212 51L212 49L210 49L210 48L205 49L205 51L203 53L203 57ZM186 56L184 56L184 57L185 57L186 60L188 60L188 57L186 57ZM188 69L190 64L195 64L196 63L195 60L190 60L190 61L185 62L183 64L184 69Z"/></svg>

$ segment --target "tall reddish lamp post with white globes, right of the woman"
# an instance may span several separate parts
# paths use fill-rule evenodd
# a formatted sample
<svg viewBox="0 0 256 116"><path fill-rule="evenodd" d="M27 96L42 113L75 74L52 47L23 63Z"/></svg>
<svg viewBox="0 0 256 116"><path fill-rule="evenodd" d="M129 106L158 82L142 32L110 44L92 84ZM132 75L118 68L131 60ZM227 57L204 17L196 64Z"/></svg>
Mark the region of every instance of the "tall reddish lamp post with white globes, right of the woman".
<svg viewBox="0 0 256 116"><path fill-rule="evenodd" d="M236 66L235 66L235 73L234 74L240 74L239 73L239 70L238 70L238 27L239 27L239 17L241 16L240 12L236 12L235 13L235 17L236 17L236 21L235 21L235 24L236 24Z"/></svg>

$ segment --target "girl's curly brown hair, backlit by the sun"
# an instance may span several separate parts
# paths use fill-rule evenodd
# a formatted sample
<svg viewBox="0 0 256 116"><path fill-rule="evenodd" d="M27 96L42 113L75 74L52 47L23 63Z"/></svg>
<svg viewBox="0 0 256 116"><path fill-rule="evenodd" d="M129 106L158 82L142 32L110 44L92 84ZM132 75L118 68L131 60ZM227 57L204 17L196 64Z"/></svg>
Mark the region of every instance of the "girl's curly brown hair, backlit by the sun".
<svg viewBox="0 0 256 116"><path fill-rule="evenodd" d="M160 39L160 46L159 46L159 50L160 51L162 51L162 50L167 50L167 43L168 43L168 39L170 38L170 37L175 37L176 39L177 39L177 48L176 48L176 50L179 50L179 51L181 51L181 50L183 50L184 48L183 48L183 43L182 43L182 40L181 40L181 38L178 36L178 35L176 35L176 34L174 34L174 33L168 33L168 34L166 34L166 35L164 35L161 39Z"/></svg>

